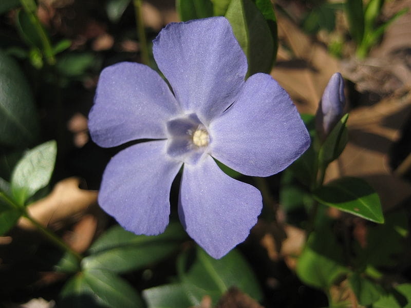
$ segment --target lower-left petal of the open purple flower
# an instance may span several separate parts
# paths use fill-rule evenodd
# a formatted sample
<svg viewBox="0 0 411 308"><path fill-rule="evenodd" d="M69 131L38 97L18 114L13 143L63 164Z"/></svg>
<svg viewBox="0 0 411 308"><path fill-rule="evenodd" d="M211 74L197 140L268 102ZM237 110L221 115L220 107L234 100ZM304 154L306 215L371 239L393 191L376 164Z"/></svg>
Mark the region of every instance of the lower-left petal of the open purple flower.
<svg viewBox="0 0 411 308"><path fill-rule="evenodd" d="M99 204L135 234L156 235L169 224L171 184L182 163L168 158L165 146L165 140L130 146L104 171Z"/></svg>

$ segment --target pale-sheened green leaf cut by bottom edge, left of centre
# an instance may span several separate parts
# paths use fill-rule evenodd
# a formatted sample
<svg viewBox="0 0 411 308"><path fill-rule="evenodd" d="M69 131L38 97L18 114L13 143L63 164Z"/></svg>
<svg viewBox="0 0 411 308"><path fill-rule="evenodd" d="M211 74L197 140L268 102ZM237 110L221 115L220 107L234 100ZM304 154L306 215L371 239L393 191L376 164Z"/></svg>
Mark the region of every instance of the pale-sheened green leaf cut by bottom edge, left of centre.
<svg viewBox="0 0 411 308"><path fill-rule="evenodd" d="M183 308L193 303L185 295L180 283L160 285L143 291L148 308Z"/></svg>

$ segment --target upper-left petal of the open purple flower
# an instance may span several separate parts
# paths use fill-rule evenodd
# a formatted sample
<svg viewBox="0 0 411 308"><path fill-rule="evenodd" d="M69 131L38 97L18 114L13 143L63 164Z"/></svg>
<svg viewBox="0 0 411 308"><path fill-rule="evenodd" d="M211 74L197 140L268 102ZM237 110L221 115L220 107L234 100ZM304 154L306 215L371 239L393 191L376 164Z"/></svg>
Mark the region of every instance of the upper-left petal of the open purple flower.
<svg viewBox="0 0 411 308"><path fill-rule="evenodd" d="M150 67L122 62L105 68L88 116L91 138L112 147L143 138L165 138L165 123L179 112L169 86Z"/></svg>

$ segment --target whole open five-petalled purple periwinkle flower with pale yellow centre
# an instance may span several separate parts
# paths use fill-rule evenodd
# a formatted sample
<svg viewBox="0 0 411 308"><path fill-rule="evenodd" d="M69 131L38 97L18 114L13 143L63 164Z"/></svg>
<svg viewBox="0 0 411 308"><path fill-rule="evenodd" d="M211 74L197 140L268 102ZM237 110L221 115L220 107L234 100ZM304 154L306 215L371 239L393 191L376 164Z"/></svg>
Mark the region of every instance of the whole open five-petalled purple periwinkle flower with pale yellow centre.
<svg viewBox="0 0 411 308"><path fill-rule="evenodd" d="M171 184L184 164L178 212L212 257L244 241L262 202L213 158L248 176L271 176L307 149L308 132L270 75L247 81L247 59L224 17L167 25L154 40L157 65L105 68L89 114L92 139L120 151L108 163L99 204L127 230L157 235L169 223ZM173 92L172 92L173 91Z"/></svg>

